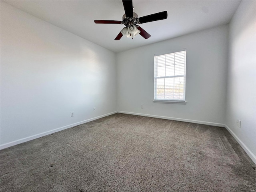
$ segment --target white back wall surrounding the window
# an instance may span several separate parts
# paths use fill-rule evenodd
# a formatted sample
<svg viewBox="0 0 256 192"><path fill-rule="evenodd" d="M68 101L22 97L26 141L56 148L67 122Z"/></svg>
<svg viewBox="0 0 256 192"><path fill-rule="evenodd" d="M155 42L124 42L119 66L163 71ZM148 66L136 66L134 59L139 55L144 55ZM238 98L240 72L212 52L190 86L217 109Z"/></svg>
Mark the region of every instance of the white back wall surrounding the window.
<svg viewBox="0 0 256 192"><path fill-rule="evenodd" d="M187 104L153 103L154 54L184 48L187 50ZM223 126L227 55L226 25L118 53L118 111L213 122Z"/></svg>

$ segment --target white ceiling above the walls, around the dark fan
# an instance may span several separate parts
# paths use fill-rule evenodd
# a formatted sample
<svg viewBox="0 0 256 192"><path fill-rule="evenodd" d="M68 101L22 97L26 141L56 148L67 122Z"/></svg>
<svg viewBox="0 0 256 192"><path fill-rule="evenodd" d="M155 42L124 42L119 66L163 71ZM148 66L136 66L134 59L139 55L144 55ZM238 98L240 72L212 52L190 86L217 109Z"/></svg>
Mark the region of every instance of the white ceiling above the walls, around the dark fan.
<svg viewBox="0 0 256 192"><path fill-rule="evenodd" d="M103 1L4 1L16 8L65 29L113 52L178 37L198 30L230 22L239 1L161 1L134 0L134 12L139 17L167 11L168 18L141 24L151 37L114 38L124 27L120 24L95 24L94 20L122 20L124 8L121 0Z"/></svg>

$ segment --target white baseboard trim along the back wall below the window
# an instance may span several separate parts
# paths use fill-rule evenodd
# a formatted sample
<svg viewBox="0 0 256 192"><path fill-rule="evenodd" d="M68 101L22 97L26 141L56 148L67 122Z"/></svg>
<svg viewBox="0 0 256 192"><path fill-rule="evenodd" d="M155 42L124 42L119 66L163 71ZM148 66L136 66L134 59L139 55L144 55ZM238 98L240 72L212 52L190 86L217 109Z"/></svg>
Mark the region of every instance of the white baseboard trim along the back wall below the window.
<svg viewBox="0 0 256 192"><path fill-rule="evenodd" d="M124 114L130 114L130 115L140 115L140 116L168 119L168 120L174 120L174 121L184 121L184 122L189 122L189 123L197 123L197 124L225 127L225 124L221 124L221 123L213 123L213 122L206 122L206 121L198 121L198 120L182 119L182 118L174 118L174 117L166 117L166 116L158 116L158 115L150 115L150 114L142 114L142 113L133 113L133 112L126 112L126 111L117 111L117 112L124 113Z"/></svg>

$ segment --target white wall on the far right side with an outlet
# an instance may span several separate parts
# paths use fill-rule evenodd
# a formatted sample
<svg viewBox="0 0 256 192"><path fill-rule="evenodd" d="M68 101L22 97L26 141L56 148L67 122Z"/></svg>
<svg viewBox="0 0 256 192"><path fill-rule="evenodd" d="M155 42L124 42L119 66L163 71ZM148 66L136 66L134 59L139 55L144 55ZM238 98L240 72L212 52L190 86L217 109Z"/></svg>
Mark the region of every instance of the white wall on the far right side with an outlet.
<svg viewBox="0 0 256 192"><path fill-rule="evenodd" d="M229 35L226 125L256 163L255 1L241 2L230 22ZM241 120L241 128L236 119Z"/></svg>

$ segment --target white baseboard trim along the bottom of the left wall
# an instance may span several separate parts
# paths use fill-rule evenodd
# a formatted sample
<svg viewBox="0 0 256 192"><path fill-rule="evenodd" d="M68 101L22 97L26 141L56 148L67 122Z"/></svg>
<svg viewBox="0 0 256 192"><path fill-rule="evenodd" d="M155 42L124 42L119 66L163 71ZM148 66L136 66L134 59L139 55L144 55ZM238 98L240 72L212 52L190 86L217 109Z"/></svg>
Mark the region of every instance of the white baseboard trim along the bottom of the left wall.
<svg viewBox="0 0 256 192"><path fill-rule="evenodd" d="M42 137L42 136L46 136L46 135L49 135L49 134L52 134L52 133L55 133L55 132L58 132L58 131L61 131L61 130L64 130L64 129L68 129L68 128L71 128L71 127L74 127L74 126L77 126L77 125L80 125L80 124L84 124L84 123L87 123L87 122L90 122L90 121L93 121L93 120L96 120L96 119L100 119L102 117L106 117L106 116L109 116L109 115L112 115L112 114L115 114L115 113L117 113L117 111L114 111L114 112L111 112L111 113L108 113L108 114L104 114L104 115L101 115L101 116L98 116L98 117L90 118L90 119L80 121L80 122L77 122L77 123L73 123L73 124L70 124L70 125L66 125L66 126L56 128L56 129L53 129L53 130L50 130L50 131L46 131L46 132L43 132L43 133L39 133L39 134L36 134L36 135L28 136L26 138L18 139L16 141L5 143L5 144L0 145L0 149L2 150L2 149L5 149L5 148L14 146L14 145L18 145L18 144L21 144L21 143L24 143L24 142L27 142L27 141L30 141L30 140L33 140L33 139L37 139L37 138Z"/></svg>

